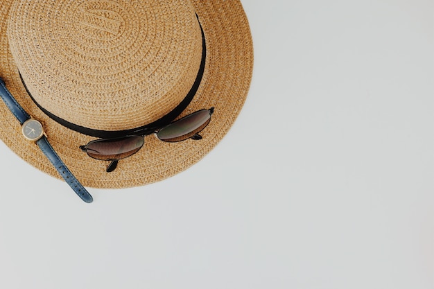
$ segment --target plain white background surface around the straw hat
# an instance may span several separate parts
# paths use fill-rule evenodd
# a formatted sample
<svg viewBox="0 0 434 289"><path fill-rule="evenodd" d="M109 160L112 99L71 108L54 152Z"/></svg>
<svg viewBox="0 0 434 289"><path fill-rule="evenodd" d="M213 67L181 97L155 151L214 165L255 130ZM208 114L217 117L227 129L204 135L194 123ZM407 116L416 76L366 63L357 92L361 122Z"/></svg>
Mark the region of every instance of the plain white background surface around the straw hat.
<svg viewBox="0 0 434 289"><path fill-rule="evenodd" d="M192 168L89 205L1 143L0 288L434 288L433 1L243 5L250 93Z"/></svg>

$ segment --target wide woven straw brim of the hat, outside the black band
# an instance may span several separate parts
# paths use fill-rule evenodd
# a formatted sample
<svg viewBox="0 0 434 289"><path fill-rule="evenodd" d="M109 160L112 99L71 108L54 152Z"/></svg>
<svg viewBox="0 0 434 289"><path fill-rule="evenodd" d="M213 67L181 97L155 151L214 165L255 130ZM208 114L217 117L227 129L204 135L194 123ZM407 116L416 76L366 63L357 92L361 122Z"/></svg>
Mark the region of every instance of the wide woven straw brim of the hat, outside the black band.
<svg viewBox="0 0 434 289"><path fill-rule="evenodd" d="M43 123L51 146L85 186L101 189L142 186L180 173L196 164L223 139L243 107L252 79L253 44L241 2L193 0L205 33L207 59L196 96L181 116L215 107L211 123L202 132L200 141L165 143L154 135L146 136L139 152L119 161L116 170L106 173L107 161L92 159L79 148L95 138L53 121L26 93L6 34L12 2L4 0L0 7L0 77L24 110ZM3 102L0 102L0 120L0 139L11 150L35 168L60 178L35 143L22 136L19 122Z"/></svg>

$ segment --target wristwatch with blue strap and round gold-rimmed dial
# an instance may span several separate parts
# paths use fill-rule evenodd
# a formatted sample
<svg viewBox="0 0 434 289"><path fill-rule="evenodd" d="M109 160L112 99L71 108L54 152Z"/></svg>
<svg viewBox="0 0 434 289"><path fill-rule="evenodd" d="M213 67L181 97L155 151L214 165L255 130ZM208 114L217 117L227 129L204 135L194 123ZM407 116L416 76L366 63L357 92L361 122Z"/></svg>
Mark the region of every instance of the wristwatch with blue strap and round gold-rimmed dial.
<svg viewBox="0 0 434 289"><path fill-rule="evenodd" d="M62 159L53 150L46 135L44 134L44 127L40 121L31 118L31 116L24 110L17 100L10 94L6 88L5 82L0 78L0 97L6 103L10 112L17 118L21 124L21 131L26 139L34 141L40 147L44 155L51 161L58 173L63 177L65 182L71 186L74 192L85 202L90 203L93 201L92 195L85 189L85 187L78 182L69 168L63 163Z"/></svg>

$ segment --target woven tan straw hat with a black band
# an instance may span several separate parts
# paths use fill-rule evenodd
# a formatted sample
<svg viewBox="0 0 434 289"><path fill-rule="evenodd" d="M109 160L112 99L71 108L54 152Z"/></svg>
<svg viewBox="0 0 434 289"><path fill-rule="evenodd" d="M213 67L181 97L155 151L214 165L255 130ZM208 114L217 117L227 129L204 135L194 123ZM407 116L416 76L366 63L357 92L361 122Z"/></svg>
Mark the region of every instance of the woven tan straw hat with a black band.
<svg viewBox="0 0 434 289"><path fill-rule="evenodd" d="M225 136L248 94L252 37L237 0L2 0L0 14L0 78L85 186L141 186L189 168ZM111 173L80 150L98 137L76 127L131 130L171 112L198 78L202 55L200 85L178 118L215 107L203 139L148 135ZM0 121L9 148L60 178L2 101Z"/></svg>

